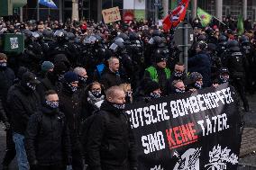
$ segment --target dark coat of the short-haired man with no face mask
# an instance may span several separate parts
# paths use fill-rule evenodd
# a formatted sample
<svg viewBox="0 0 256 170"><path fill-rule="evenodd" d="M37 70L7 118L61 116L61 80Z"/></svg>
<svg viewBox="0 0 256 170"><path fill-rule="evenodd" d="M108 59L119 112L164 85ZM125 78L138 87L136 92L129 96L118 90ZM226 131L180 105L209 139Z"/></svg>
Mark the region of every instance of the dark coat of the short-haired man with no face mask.
<svg viewBox="0 0 256 170"><path fill-rule="evenodd" d="M105 69L105 72L101 76L100 83L104 85L105 90L114 85L122 84L122 80L119 75L110 71L109 68Z"/></svg>

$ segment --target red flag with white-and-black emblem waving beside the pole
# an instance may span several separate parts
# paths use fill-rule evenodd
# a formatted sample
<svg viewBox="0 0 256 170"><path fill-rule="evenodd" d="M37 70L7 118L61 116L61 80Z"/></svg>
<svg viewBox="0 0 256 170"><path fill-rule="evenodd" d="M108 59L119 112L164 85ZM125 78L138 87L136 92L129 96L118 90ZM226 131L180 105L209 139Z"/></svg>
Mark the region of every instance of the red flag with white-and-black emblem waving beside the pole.
<svg viewBox="0 0 256 170"><path fill-rule="evenodd" d="M172 10L164 19L163 19L163 30L169 31L172 27L176 27L179 22L182 22L187 13L187 6L189 0L182 0L178 6Z"/></svg>

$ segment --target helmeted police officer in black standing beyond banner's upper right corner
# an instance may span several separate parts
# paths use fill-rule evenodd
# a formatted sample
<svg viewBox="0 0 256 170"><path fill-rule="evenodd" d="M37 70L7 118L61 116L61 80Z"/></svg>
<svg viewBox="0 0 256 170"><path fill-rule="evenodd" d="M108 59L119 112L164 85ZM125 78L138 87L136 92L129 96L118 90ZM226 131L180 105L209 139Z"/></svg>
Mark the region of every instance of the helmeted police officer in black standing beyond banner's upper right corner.
<svg viewBox="0 0 256 170"><path fill-rule="evenodd" d="M249 103L245 96L245 68L248 67L248 62L239 48L237 40L230 40L227 43L228 51L224 56L224 67L230 71L231 82L238 94L240 94L245 112L249 112Z"/></svg>

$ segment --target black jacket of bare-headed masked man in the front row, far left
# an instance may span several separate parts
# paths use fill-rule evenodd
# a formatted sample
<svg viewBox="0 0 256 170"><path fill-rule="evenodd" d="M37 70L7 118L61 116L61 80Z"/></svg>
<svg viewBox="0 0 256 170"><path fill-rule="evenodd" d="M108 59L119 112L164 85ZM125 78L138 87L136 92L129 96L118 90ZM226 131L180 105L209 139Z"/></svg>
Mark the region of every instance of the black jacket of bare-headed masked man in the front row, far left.
<svg viewBox="0 0 256 170"><path fill-rule="evenodd" d="M25 148L30 163L40 166L68 165L71 160L69 130L65 115L42 107L32 114L25 135Z"/></svg>

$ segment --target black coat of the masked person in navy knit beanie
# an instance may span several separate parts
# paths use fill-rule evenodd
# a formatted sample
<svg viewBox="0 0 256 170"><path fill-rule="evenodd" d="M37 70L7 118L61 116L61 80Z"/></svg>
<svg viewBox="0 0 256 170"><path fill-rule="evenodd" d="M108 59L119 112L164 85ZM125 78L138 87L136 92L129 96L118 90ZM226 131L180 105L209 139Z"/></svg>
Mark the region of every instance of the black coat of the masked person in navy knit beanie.
<svg viewBox="0 0 256 170"><path fill-rule="evenodd" d="M67 88L59 93L59 111L63 112L67 118L72 146L76 146L79 141L81 129L81 100L78 94L70 93Z"/></svg>

